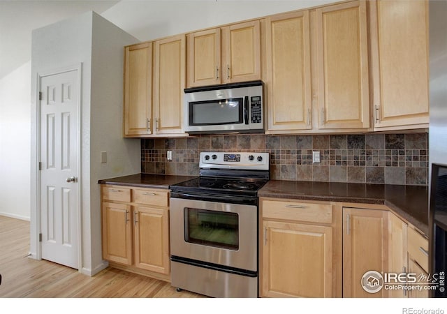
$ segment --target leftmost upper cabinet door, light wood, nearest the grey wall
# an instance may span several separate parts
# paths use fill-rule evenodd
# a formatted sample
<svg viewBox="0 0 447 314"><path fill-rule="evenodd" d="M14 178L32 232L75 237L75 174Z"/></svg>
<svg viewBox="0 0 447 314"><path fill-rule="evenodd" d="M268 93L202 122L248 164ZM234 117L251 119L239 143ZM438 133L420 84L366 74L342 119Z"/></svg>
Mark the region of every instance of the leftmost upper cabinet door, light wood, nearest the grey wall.
<svg viewBox="0 0 447 314"><path fill-rule="evenodd" d="M152 43L124 51L124 136L152 134Z"/></svg>

